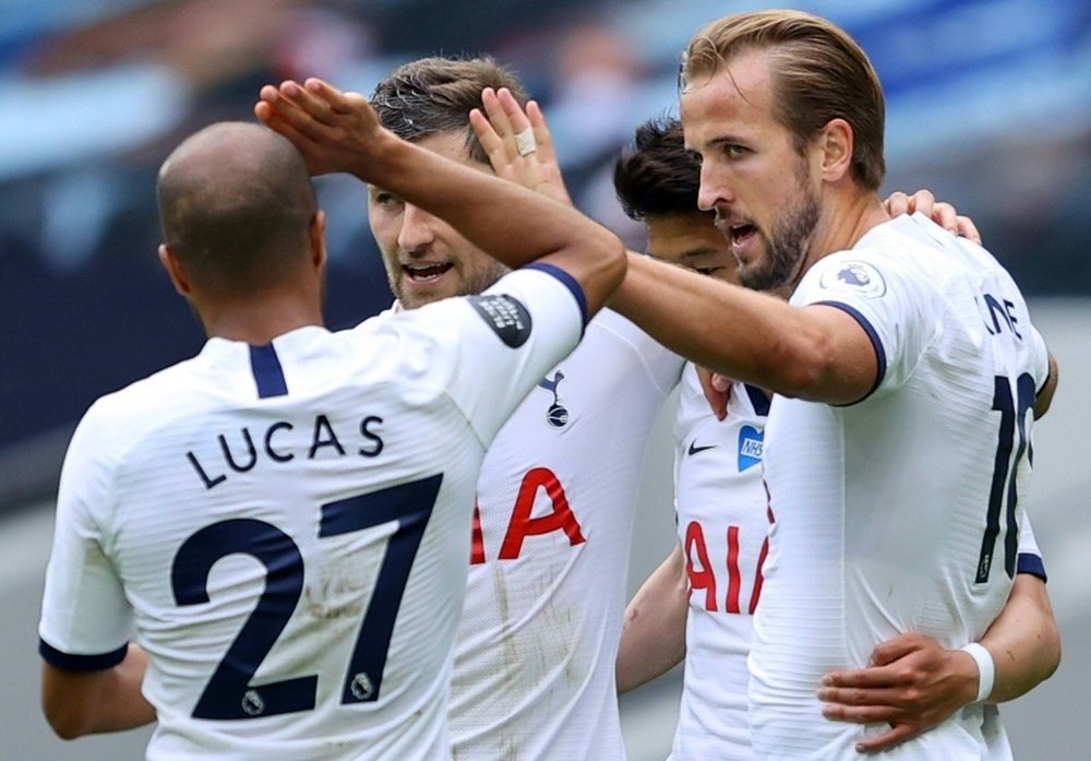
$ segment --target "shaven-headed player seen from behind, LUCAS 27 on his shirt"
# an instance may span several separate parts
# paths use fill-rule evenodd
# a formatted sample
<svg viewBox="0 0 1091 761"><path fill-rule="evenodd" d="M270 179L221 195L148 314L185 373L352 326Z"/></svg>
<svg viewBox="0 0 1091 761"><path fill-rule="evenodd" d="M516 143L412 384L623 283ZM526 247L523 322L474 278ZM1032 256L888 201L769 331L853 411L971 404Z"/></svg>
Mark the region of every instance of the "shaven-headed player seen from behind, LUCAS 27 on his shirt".
<svg viewBox="0 0 1091 761"><path fill-rule="evenodd" d="M220 123L179 145L159 257L208 342L100 399L73 437L43 705L62 737L158 718L152 759L446 757L481 459L623 276L623 248L401 141L359 96L314 81L265 97L285 129L296 100L349 115L355 174L521 269L329 333L324 215L291 143Z"/></svg>

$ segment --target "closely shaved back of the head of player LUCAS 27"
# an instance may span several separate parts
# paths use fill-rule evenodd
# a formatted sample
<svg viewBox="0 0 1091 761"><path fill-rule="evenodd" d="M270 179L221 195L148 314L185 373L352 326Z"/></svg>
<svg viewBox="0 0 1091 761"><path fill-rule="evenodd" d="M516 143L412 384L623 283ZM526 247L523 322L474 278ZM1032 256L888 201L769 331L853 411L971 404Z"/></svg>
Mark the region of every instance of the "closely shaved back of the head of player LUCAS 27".
<svg viewBox="0 0 1091 761"><path fill-rule="evenodd" d="M317 211L303 157L259 124L219 122L184 140L159 169L164 241L191 276L223 293L293 271Z"/></svg>

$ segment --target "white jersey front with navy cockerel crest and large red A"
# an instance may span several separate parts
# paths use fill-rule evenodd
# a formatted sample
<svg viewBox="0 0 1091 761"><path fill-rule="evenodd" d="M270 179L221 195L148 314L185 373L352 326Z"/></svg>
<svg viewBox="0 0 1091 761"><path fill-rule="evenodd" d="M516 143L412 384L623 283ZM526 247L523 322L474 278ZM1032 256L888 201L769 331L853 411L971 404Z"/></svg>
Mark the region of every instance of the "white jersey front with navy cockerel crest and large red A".
<svg viewBox="0 0 1091 761"><path fill-rule="evenodd" d="M489 448L452 679L457 759L620 759L614 662L646 442L682 359L603 310Z"/></svg>

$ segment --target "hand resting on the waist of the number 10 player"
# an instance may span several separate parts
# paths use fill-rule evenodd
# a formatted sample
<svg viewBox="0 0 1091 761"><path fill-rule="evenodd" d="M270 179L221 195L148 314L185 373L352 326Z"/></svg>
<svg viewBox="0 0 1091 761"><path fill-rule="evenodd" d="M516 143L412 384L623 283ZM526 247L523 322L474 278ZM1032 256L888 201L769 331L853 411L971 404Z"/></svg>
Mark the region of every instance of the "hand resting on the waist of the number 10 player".
<svg viewBox="0 0 1091 761"><path fill-rule="evenodd" d="M978 695L972 658L921 634L877 645L867 668L830 671L817 695L835 722L887 722L889 732L856 744L862 753L892 748L946 721Z"/></svg>

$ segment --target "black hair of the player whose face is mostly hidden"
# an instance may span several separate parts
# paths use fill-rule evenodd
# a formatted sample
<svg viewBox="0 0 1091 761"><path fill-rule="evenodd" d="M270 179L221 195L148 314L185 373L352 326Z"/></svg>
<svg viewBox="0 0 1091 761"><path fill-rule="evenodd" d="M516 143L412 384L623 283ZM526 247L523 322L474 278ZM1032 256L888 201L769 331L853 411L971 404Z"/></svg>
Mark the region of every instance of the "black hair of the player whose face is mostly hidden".
<svg viewBox="0 0 1091 761"><path fill-rule="evenodd" d="M686 151L682 122L650 119L638 128L634 145L614 164L614 190L631 218L698 213L700 164Z"/></svg>

